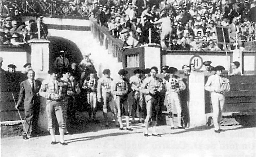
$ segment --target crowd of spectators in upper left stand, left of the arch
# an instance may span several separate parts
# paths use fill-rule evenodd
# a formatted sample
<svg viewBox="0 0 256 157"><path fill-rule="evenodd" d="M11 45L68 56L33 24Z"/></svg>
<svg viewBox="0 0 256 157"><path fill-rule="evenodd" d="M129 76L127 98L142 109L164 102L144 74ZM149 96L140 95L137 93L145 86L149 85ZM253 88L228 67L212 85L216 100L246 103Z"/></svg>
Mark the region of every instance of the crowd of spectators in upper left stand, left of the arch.
<svg viewBox="0 0 256 157"><path fill-rule="evenodd" d="M28 25L22 21L20 1L0 1L0 44L23 45L29 39L38 37L37 23L34 19L29 20ZM48 34L47 26L39 16L40 34L46 38Z"/></svg>

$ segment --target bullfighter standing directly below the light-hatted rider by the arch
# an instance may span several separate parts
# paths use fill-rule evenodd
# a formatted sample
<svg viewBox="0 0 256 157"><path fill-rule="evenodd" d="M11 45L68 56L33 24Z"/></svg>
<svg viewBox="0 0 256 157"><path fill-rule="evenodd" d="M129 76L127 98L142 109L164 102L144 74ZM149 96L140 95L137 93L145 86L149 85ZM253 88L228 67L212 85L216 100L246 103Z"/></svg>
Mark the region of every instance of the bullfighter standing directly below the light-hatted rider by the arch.
<svg viewBox="0 0 256 157"><path fill-rule="evenodd" d="M97 102L97 86L98 80L94 77L95 72L90 71L89 77L87 77L83 83L83 89L87 91L87 103L90 104L90 110L88 111L89 118L94 122L96 119L96 102Z"/></svg>

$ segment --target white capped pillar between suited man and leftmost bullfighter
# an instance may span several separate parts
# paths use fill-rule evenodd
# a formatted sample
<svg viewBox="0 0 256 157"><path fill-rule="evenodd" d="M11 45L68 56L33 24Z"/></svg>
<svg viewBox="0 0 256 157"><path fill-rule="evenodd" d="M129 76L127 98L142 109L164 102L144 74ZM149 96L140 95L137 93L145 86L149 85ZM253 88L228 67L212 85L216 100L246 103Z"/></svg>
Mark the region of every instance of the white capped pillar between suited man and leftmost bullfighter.
<svg viewBox="0 0 256 157"><path fill-rule="evenodd" d="M49 74L49 43L46 39L31 39L31 66L35 71L36 79L43 81ZM41 131L47 131L46 99L41 97L38 126Z"/></svg>

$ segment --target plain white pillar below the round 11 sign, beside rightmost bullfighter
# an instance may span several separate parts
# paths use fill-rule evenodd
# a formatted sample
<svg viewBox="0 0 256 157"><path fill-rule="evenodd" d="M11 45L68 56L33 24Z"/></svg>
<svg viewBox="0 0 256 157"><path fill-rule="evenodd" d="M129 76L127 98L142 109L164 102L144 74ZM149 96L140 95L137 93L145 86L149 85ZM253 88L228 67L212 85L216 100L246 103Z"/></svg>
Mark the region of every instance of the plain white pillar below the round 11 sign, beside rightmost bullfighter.
<svg viewBox="0 0 256 157"><path fill-rule="evenodd" d="M189 116L190 127L206 125L203 73L189 76Z"/></svg>

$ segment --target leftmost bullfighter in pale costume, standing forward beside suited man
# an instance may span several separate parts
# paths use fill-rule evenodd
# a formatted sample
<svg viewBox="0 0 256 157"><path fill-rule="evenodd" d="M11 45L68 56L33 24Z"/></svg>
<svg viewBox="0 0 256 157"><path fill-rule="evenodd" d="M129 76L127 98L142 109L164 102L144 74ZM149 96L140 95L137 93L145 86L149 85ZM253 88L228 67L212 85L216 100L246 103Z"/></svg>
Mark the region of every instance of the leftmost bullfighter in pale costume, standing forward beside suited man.
<svg viewBox="0 0 256 157"><path fill-rule="evenodd" d="M64 84L62 80L58 79L58 73L56 69L50 69L48 71L50 78L42 82L39 95L46 98L46 112L48 116L48 130L51 135L52 142L51 144L57 144L55 139L55 127L53 126L52 115L55 114L60 134L60 144L67 145L64 141L64 131L65 131L65 121L63 119L62 108L65 101L63 98L63 93L67 92L67 84Z"/></svg>

